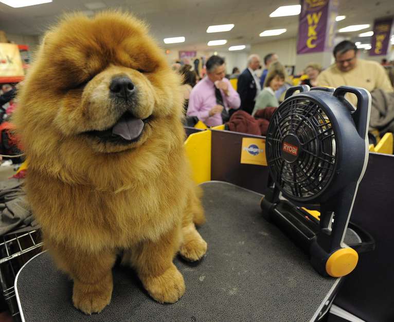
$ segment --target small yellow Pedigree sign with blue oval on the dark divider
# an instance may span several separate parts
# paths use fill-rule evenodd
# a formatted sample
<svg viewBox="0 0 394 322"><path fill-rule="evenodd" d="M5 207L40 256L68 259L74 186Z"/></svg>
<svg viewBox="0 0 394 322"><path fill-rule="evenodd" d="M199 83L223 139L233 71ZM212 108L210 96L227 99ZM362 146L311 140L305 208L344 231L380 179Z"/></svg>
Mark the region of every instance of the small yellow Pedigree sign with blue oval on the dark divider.
<svg viewBox="0 0 394 322"><path fill-rule="evenodd" d="M267 160L265 158L265 140L256 138L243 138L241 163L267 165Z"/></svg>

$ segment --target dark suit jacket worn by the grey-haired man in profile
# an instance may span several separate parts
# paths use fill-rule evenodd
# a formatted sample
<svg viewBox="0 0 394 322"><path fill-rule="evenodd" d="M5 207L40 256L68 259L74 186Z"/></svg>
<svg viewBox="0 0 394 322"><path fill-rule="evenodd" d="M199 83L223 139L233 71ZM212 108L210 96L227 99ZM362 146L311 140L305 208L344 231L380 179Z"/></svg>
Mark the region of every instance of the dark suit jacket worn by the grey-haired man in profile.
<svg viewBox="0 0 394 322"><path fill-rule="evenodd" d="M237 92L241 98L240 109L252 114L255 107L256 82L253 75L246 68L238 77Z"/></svg>

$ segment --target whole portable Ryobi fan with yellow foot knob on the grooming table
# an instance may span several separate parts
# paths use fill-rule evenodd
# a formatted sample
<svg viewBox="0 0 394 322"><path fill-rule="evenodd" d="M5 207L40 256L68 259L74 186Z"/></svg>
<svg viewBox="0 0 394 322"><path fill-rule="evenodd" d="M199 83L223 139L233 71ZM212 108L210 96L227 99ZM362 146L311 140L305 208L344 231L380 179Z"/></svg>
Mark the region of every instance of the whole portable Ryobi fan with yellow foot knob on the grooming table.
<svg viewBox="0 0 394 322"><path fill-rule="evenodd" d="M347 93L355 94L357 108ZM358 261L344 237L367 166L370 107L363 88L296 86L286 92L268 127L263 215L309 253L322 275L344 276ZM319 220L305 209L318 210ZM371 245L371 237L361 235Z"/></svg>

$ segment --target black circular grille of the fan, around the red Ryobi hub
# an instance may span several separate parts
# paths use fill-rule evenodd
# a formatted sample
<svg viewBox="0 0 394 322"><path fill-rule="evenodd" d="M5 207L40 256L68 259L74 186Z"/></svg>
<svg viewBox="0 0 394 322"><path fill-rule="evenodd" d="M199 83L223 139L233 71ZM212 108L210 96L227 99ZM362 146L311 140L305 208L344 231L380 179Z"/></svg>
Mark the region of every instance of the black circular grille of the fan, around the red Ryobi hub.
<svg viewBox="0 0 394 322"><path fill-rule="evenodd" d="M293 163L282 158L282 141L289 134L300 141ZM314 100L295 98L279 106L266 136L268 168L279 189L298 200L322 194L335 173L335 140L331 120Z"/></svg>

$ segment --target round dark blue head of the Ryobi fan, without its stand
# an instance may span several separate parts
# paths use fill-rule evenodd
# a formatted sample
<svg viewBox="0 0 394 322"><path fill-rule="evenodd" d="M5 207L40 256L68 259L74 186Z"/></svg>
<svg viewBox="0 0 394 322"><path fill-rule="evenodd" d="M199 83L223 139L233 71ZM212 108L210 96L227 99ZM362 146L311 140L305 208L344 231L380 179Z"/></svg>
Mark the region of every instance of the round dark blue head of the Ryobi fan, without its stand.
<svg viewBox="0 0 394 322"><path fill-rule="evenodd" d="M357 132L353 114L362 111L344 99L342 90L348 91L312 88L293 96L288 91L271 118L268 169L286 197L325 200L359 178L366 154L365 128Z"/></svg>

